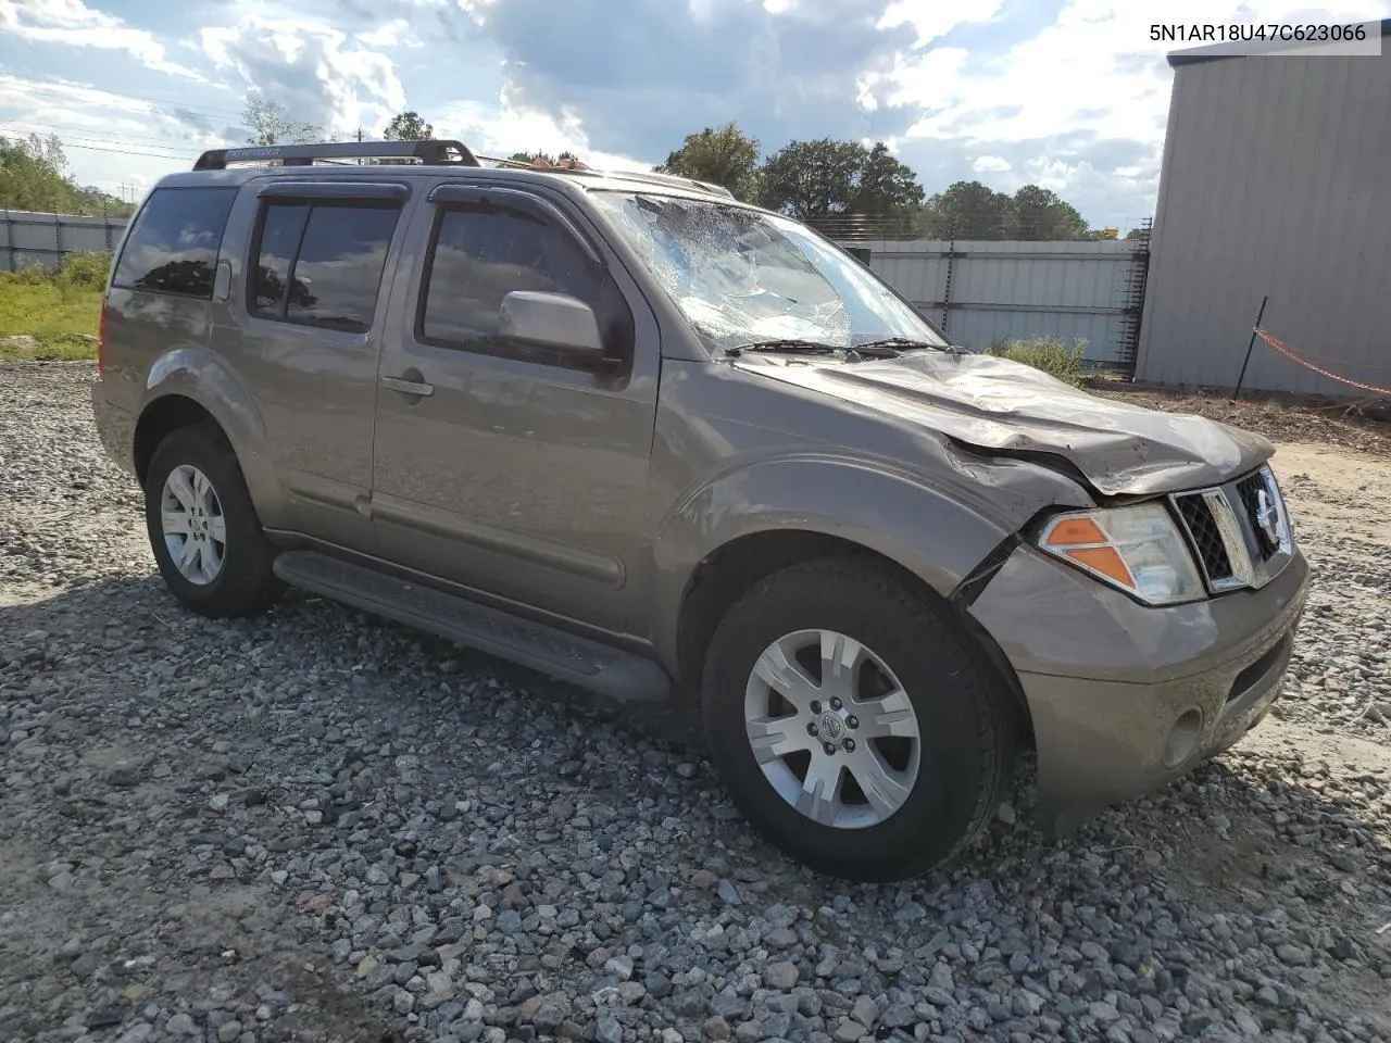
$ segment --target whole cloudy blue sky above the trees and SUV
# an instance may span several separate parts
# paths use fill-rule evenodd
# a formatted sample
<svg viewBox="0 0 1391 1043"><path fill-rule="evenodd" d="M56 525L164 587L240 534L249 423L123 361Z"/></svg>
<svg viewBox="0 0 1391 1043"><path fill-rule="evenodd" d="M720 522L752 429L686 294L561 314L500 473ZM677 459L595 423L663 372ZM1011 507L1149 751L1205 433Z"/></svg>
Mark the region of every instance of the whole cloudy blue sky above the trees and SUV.
<svg viewBox="0 0 1391 1043"><path fill-rule="evenodd" d="M928 193L1050 188L1134 227L1173 72L1157 22L1358 22L1391 0L0 0L0 135L138 197L245 143L249 99L335 136L419 111L474 152L650 168L730 120L764 154L883 140Z"/></svg>

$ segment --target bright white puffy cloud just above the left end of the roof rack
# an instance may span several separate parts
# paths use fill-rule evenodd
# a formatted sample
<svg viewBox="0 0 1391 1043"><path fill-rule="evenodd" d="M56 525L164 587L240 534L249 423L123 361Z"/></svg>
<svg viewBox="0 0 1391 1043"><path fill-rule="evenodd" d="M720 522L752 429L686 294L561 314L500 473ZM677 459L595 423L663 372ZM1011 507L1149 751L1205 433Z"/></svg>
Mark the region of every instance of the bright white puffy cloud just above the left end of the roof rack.
<svg viewBox="0 0 1391 1043"><path fill-rule="evenodd" d="M331 132L377 127L406 106L391 58L313 18L243 15L203 29L202 45L217 68L285 106L291 118Z"/></svg>

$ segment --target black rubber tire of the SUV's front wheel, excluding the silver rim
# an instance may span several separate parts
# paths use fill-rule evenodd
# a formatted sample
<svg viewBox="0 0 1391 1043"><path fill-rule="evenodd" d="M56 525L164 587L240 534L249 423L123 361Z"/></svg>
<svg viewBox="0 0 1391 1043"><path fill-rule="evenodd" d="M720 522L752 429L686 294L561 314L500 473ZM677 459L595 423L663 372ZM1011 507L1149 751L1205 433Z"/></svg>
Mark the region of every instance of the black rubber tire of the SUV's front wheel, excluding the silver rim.
<svg viewBox="0 0 1391 1043"><path fill-rule="evenodd" d="M835 630L883 662L917 715L917 780L896 812L855 829L803 815L764 776L744 723L758 656L798 630ZM1010 782L1017 718L1008 691L944 605L929 604L878 562L828 558L761 580L725 615L702 677L715 763L744 816L819 872L860 882L904 880L979 834Z"/></svg>

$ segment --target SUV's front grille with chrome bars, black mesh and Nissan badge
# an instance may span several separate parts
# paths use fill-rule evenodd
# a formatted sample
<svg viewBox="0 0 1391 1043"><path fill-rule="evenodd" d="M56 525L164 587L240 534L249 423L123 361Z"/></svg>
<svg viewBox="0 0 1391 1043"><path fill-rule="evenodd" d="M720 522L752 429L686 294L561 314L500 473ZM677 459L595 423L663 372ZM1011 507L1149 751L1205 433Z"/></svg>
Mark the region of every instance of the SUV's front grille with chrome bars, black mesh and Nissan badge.
<svg viewBox="0 0 1391 1043"><path fill-rule="evenodd" d="M1263 587L1294 553L1289 516L1269 466L1171 501L1213 592Z"/></svg>

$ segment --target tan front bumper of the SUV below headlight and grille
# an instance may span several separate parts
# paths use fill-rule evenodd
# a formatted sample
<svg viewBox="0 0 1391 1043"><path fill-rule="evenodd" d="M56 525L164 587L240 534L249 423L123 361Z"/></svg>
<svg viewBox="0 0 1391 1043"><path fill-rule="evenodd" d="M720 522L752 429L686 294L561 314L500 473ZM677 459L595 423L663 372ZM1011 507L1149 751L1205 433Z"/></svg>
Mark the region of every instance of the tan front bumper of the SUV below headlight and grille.
<svg viewBox="0 0 1391 1043"><path fill-rule="evenodd" d="M1280 693L1309 588L1295 549L1260 590L1146 608L1018 547L971 606L1018 676L1039 825L1071 829L1239 740Z"/></svg>

